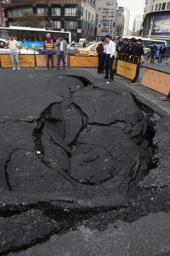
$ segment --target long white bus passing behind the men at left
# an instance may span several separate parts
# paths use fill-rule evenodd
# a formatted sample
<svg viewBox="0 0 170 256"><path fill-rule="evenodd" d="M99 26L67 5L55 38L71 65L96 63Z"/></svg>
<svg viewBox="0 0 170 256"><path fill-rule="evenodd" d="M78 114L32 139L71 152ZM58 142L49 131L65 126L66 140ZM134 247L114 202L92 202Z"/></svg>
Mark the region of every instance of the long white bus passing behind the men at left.
<svg viewBox="0 0 170 256"><path fill-rule="evenodd" d="M0 38L8 39L9 34L15 36L17 41L37 41L44 42L45 35L47 33L51 34L51 38L55 41L59 38L59 35L63 35L63 39L67 43L71 43L71 32L62 32L55 30L46 30L39 28L30 28L30 27L20 27L20 26L9 26L0 27Z"/></svg>

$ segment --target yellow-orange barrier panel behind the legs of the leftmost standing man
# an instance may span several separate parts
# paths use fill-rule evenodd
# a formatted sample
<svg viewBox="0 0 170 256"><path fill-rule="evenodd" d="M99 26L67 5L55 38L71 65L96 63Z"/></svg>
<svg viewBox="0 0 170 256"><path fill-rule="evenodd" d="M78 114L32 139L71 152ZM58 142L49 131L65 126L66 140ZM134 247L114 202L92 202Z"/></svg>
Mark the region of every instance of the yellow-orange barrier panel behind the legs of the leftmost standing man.
<svg viewBox="0 0 170 256"><path fill-rule="evenodd" d="M35 67L34 54L19 54L19 61L20 67ZM0 62L1 67L12 67L9 54L0 54Z"/></svg>

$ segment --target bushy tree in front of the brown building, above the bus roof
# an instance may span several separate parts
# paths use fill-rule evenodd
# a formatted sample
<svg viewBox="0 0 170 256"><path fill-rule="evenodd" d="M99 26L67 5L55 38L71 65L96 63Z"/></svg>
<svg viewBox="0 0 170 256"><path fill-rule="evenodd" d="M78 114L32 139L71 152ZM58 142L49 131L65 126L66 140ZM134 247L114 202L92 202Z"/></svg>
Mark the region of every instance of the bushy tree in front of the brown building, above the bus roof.
<svg viewBox="0 0 170 256"><path fill-rule="evenodd" d="M45 19L43 16L34 13L22 12L22 16L15 16L14 21L18 26L42 28L42 23L45 22Z"/></svg>

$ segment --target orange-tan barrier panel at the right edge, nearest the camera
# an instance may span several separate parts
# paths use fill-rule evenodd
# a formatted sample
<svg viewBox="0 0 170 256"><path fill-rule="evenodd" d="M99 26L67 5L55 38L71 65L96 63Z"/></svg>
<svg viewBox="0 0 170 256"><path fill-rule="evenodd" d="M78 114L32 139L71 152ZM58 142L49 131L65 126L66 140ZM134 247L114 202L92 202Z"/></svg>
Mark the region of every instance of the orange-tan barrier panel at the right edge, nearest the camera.
<svg viewBox="0 0 170 256"><path fill-rule="evenodd" d="M145 68L142 85L167 96L170 92L170 74Z"/></svg>

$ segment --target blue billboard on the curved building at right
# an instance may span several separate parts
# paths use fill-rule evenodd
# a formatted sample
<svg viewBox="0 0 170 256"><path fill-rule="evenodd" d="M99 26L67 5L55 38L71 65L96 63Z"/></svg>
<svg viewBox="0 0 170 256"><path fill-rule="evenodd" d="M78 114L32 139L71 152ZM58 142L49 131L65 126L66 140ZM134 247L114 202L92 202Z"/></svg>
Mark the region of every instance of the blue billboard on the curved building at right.
<svg viewBox="0 0 170 256"><path fill-rule="evenodd" d="M170 14L154 16L151 35L170 35Z"/></svg>

